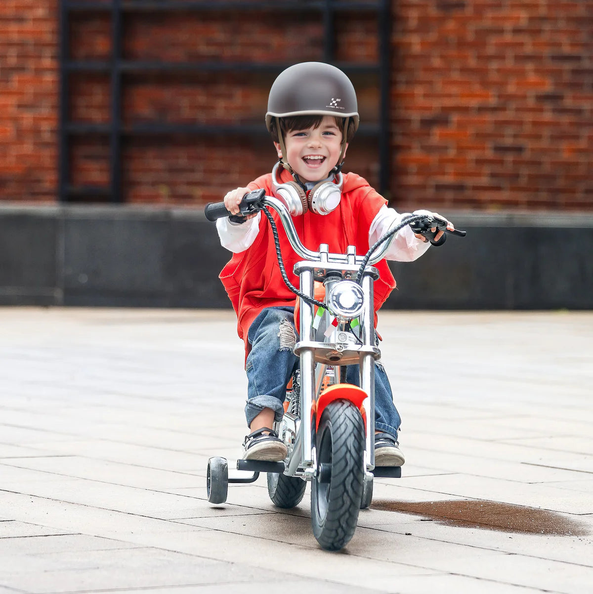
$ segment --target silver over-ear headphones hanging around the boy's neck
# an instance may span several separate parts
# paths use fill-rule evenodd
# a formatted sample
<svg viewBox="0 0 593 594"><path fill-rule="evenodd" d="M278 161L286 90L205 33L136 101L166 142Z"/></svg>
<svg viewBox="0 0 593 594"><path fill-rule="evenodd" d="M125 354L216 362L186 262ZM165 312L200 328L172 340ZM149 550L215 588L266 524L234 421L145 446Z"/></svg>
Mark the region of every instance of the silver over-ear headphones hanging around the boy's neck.
<svg viewBox="0 0 593 594"><path fill-rule="evenodd" d="M340 204L344 184L341 173L335 176L336 184L328 181L319 182L307 195L295 181L286 183L278 181L278 165L280 162L276 163L272 169L272 189L275 197L283 201L291 216L305 214L307 210L311 210L315 214L329 214Z"/></svg>

